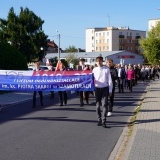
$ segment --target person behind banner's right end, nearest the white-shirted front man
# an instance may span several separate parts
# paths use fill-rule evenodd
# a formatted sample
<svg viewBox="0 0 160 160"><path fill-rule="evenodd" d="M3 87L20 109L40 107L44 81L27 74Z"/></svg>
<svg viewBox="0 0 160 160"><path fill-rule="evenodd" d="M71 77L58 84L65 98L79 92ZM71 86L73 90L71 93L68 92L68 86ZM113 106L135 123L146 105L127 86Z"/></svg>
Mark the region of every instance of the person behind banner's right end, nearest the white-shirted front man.
<svg viewBox="0 0 160 160"><path fill-rule="evenodd" d="M78 71L86 70L86 66L84 63L85 59L84 58L80 59L79 65L77 66ZM84 105L83 98L85 98L86 103L89 104L89 92L79 91L79 97L80 97L80 107Z"/></svg>

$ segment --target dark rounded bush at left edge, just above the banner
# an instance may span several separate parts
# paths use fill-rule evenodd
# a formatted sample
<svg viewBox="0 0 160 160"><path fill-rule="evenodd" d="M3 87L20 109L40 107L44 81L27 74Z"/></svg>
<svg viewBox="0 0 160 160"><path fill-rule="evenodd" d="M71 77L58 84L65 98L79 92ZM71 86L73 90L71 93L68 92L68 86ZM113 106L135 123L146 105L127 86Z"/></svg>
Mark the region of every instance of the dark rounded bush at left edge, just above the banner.
<svg viewBox="0 0 160 160"><path fill-rule="evenodd" d="M8 43L0 42L0 69L27 70L27 61L15 47Z"/></svg>

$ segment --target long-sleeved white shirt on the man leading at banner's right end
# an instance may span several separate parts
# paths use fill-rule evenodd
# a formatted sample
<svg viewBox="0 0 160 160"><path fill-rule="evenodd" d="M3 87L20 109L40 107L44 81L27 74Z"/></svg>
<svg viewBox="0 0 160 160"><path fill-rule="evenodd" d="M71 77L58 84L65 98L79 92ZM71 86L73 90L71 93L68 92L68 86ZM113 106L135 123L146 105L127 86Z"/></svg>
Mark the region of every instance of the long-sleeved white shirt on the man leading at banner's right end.
<svg viewBox="0 0 160 160"><path fill-rule="evenodd" d="M108 86L109 93L112 93L113 84L112 84L110 69L106 66L95 67L92 70L92 73L94 76L95 87L104 88Z"/></svg>

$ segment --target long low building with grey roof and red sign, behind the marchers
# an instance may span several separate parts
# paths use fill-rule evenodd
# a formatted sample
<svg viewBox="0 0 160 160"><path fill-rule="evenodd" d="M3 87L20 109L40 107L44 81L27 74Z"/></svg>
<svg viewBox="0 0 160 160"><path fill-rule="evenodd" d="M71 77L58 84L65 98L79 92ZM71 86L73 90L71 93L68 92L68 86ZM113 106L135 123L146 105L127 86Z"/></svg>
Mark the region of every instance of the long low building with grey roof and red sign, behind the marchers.
<svg viewBox="0 0 160 160"><path fill-rule="evenodd" d="M102 56L104 61L111 58L115 64L143 64L144 57L142 55L129 51L107 51L107 52L76 52L73 53L78 59L84 58L85 64L95 65L96 57ZM61 59L66 59L68 53L61 53ZM46 59L58 57L58 53L50 53L46 55Z"/></svg>

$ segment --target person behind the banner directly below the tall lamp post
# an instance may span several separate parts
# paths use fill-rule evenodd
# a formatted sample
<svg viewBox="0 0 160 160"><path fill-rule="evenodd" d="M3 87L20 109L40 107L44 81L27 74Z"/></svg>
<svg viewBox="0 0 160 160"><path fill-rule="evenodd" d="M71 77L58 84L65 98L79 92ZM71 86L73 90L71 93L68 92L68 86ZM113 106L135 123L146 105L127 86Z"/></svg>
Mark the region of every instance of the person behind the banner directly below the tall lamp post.
<svg viewBox="0 0 160 160"><path fill-rule="evenodd" d="M56 71L64 71L64 70L66 70L65 65L60 60L58 60ZM67 92L58 91L58 95L59 95L60 106L66 105L67 104Z"/></svg>

